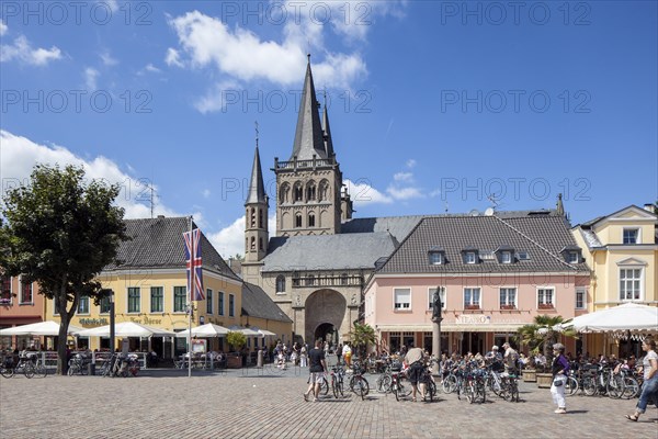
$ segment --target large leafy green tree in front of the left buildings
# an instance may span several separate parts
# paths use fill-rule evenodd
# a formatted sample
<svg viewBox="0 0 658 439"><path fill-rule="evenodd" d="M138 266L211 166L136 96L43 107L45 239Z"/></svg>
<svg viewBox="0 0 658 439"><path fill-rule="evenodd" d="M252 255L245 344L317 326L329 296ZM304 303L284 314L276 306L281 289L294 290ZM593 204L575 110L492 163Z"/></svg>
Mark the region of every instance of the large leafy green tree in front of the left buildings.
<svg viewBox="0 0 658 439"><path fill-rule="evenodd" d="M106 290L95 279L116 261L125 235L124 211L113 205L118 185L84 181L82 168L37 165L30 182L3 198L0 266L7 274L37 282L39 294L52 299L61 325L57 372L66 373L69 322L80 296L99 303Z"/></svg>

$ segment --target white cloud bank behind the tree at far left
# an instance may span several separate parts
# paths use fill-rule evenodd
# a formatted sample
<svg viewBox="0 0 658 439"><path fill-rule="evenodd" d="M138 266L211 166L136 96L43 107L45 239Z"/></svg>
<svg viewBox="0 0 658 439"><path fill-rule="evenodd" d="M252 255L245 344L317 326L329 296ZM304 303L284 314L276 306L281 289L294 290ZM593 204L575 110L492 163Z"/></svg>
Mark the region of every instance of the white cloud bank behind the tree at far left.
<svg viewBox="0 0 658 439"><path fill-rule="evenodd" d="M34 165L37 162L58 165L61 168L67 165L76 165L84 169L88 179L101 179L110 184L120 184L121 193L116 198L116 204L125 209L127 218L150 217L150 190L147 190L147 187L150 187L152 182L125 173L106 157L99 156L91 160L84 160L61 146L38 145L29 138L13 135L3 130L0 130L0 144L2 145L0 175L2 176L3 193L8 189L27 183ZM157 193L157 187L154 189ZM154 214L181 216L160 203L155 203Z"/></svg>

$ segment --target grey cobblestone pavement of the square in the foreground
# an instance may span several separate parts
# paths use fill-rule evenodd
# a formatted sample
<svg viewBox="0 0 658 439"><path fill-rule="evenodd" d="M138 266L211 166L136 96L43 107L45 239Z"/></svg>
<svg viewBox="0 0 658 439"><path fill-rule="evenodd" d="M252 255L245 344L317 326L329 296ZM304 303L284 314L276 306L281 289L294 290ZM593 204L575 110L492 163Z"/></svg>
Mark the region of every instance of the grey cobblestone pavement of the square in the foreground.
<svg viewBox="0 0 658 439"><path fill-rule="evenodd" d="M553 413L548 390L521 383L521 403L496 395L468 404L439 394L433 403L397 402L373 390L305 402L299 368L225 373L150 370L137 378L0 378L2 438L658 438L658 410L638 423L636 399L574 396ZM367 375L374 386L375 375ZM488 395L489 396L489 395Z"/></svg>

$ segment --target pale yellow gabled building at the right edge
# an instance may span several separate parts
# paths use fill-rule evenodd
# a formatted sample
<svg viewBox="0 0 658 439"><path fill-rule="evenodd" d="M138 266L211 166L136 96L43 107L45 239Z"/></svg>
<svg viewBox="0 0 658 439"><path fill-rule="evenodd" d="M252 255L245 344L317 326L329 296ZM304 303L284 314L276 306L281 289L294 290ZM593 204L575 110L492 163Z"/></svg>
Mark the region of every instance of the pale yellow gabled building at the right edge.
<svg viewBox="0 0 658 439"><path fill-rule="evenodd" d="M653 205L624 207L572 228L592 270L588 311L636 302L658 306L658 217ZM636 353L637 341L587 336L591 354Z"/></svg>

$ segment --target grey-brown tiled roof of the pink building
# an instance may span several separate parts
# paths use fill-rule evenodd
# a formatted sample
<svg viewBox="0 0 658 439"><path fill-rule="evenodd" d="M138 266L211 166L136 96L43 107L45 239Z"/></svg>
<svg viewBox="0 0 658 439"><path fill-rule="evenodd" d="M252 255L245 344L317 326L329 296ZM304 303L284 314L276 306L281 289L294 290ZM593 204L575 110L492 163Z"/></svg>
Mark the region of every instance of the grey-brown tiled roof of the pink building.
<svg viewBox="0 0 658 439"><path fill-rule="evenodd" d="M567 263L560 255L576 246L569 226L553 211L510 212L491 216L435 216L423 218L393 252L379 273L587 272L586 263ZM446 263L431 264L428 251L442 247ZM514 250L513 263L486 259L499 248ZM465 263L463 250L476 248L478 263ZM527 252L527 260L518 254Z"/></svg>

